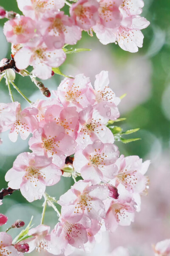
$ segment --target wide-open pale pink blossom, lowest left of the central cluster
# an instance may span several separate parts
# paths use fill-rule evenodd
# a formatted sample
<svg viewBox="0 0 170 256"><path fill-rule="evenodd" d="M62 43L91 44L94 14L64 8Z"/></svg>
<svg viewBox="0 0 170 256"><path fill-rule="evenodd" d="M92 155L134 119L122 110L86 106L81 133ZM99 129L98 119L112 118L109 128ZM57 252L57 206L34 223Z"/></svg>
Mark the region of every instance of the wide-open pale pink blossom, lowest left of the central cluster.
<svg viewBox="0 0 170 256"><path fill-rule="evenodd" d="M5 179L9 181L9 187L20 189L22 195L32 202L41 199L45 186L59 182L61 175L61 170L52 163L52 157L24 152L17 156Z"/></svg>

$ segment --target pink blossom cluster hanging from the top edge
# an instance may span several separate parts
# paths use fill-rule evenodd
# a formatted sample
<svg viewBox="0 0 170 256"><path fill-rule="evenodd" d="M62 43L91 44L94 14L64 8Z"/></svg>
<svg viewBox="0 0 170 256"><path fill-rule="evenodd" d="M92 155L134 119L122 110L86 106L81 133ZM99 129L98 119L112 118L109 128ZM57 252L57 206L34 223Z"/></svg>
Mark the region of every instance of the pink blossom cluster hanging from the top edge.
<svg viewBox="0 0 170 256"><path fill-rule="evenodd" d="M10 19L3 31L15 49L17 69L31 65L40 79L51 77L51 68L65 61L62 47L76 44L83 30L95 32L102 44L118 42L122 49L137 52L143 44L141 29L150 24L140 16L143 0L78 0L70 4L70 16L60 10L65 0L17 0L17 4L23 15L11 17L1 10L0 17Z"/></svg>

